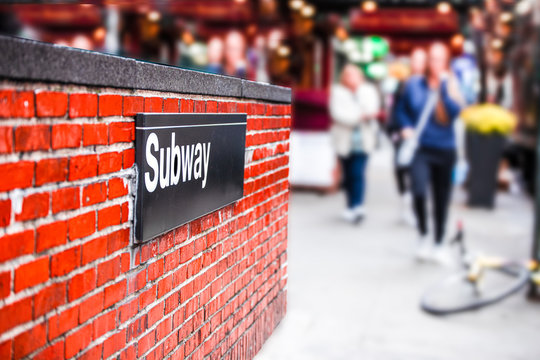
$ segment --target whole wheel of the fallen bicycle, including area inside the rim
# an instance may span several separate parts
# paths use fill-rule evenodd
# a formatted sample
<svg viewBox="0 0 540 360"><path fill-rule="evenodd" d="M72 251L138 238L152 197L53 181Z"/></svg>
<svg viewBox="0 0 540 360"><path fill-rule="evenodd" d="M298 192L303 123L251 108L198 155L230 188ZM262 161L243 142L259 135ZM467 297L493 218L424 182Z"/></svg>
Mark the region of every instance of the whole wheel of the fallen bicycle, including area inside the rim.
<svg viewBox="0 0 540 360"><path fill-rule="evenodd" d="M494 304L519 291L529 281L529 270L523 265L506 264L484 268L481 278L471 282L463 271L445 278L429 288L421 300L424 311L447 315Z"/></svg>

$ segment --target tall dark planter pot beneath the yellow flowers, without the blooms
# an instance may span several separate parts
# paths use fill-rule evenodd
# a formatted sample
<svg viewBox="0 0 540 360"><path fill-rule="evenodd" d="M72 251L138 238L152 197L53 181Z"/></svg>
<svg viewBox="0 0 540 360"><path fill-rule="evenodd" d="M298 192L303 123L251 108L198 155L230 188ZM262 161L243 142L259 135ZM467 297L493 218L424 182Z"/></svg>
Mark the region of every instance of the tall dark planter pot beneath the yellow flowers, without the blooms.
<svg viewBox="0 0 540 360"><path fill-rule="evenodd" d="M495 206L497 171L505 143L504 135L467 132L469 206L489 209Z"/></svg>

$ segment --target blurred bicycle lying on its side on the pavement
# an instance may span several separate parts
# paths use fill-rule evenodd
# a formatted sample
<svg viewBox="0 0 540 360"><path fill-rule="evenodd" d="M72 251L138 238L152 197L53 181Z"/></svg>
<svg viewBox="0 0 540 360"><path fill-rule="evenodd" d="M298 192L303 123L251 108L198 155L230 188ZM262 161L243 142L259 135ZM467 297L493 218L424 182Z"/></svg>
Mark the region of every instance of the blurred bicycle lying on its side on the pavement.
<svg viewBox="0 0 540 360"><path fill-rule="evenodd" d="M428 288L420 306L433 315L448 315L495 304L523 289L540 285L538 264L499 257L471 257L465 247L463 227L450 245L459 246L461 270Z"/></svg>

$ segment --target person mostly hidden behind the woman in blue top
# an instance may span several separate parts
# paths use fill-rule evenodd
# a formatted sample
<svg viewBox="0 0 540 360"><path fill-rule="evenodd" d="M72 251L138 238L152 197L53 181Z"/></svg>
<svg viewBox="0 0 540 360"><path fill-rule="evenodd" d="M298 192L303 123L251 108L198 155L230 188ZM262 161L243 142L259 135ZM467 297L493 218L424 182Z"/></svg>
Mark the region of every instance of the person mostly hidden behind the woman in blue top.
<svg viewBox="0 0 540 360"><path fill-rule="evenodd" d="M415 48L411 52L410 57L410 78L424 76L426 72L427 53L423 48ZM400 82L394 93L393 107L390 111L390 121L388 125L388 134L392 145L394 146L394 176L398 193L401 199L401 221L408 225L414 225L415 219L412 213L412 194L410 191L409 168L399 166L397 163L397 154L403 138L401 136L401 126L396 115L396 104L404 95L406 79L399 79Z"/></svg>

